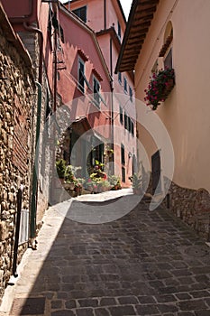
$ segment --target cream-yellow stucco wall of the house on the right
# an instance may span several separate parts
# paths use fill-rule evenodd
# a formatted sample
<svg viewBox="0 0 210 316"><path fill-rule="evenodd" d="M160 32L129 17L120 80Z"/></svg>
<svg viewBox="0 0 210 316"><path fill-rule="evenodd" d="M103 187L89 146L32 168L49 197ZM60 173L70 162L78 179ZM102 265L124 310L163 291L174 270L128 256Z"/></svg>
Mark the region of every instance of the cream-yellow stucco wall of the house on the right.
<svg viewBox="0 0 210 316"><path fill-rule="evenodd" d="M144 89L148 86L169 21L173 25L176 86L156 113L166 125L174 146L173 181L183 187L210 191L209 0L160 1L135 66L136 98L143 101L145 97ZM162 62L159 58L159 68ZM137 105L137 121L141 116L141 107ZM155 144L140 125L138 129L151 159L151 154L157 150Z"/></svg>

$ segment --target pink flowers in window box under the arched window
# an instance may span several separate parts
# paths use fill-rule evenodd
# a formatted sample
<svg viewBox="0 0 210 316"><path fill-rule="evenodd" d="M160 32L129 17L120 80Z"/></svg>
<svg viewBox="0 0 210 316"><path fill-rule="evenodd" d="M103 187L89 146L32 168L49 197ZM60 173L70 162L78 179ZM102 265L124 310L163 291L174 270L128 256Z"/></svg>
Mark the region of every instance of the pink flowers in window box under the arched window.
<svg viewBox="0 0 210 316"><path fill-rule="evenodd" d="M144 100L147 106L152 110L156 110L168 98L170 91L175 85L175 73L173 69L159 70L154 72L148 88L144 90L146 97Z"/></svg>

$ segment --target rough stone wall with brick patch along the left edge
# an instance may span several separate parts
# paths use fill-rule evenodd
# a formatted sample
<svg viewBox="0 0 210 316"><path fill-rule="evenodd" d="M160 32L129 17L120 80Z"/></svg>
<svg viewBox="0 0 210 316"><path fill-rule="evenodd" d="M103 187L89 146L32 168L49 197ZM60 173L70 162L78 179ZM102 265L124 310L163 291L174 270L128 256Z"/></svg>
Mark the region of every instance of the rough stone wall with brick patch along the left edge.
<svg viewBox="0 0 210 316"><path fill-rule="evenodd" d="M34 80L29 56L7 41L0 27L0 299L12 273L16 194L24 185L23 209L29 209L31 117ZM8 35L8 34L7 34ZM24 56L24 60L23 60ZM25 57L26 56L26 57ZM19 247L18 262L26 245Z"/></svg>

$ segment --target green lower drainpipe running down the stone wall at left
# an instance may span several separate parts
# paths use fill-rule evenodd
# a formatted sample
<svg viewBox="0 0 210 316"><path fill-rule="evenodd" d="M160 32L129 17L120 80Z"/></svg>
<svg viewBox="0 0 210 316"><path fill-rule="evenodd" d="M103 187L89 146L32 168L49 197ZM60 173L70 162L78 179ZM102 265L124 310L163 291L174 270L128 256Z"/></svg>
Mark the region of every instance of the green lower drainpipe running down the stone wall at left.
<svg viewBox="0 0 210 316"><path fill-rule="evenodd" d="M37 211L37 189L38 189L38 163L40 153L40 129L41 129L41 84L35 82L38 88L37 99L37 121L36 121L36 143L35 143L35 159L32 168L32 213L31 213L31 238L36 235L36 211Z"/></svg>

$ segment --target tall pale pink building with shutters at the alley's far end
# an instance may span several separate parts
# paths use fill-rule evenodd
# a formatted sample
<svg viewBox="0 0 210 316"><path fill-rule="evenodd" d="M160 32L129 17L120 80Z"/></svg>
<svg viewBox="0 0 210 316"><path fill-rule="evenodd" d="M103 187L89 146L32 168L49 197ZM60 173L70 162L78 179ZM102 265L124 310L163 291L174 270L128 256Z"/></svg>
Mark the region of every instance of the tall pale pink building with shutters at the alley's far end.
<svg viewBox="0 0 210 316"><path fill-rule="evenodd" d="M110 103L114 174L121 177L123 186L130 186L129 176L136 168L133 74L132 72L114 74L126 25L121 3L115 0L73 0L65 5L95 31L103 52L112 78Z"/></svg>

